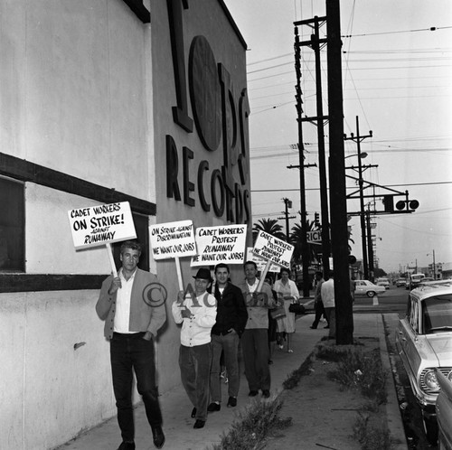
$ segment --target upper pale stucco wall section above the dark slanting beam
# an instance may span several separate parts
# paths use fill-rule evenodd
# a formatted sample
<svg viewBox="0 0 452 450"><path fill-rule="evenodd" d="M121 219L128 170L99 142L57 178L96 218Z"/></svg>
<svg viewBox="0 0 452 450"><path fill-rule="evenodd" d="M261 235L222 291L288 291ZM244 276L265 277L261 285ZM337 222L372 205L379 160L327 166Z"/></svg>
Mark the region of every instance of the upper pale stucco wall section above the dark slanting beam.
<svg viewBox="0 0 452 450"><path fill-rule="evenodd" d="M2 152L154 200L149 25L121 0L2 0L0 13Z"/></svg>

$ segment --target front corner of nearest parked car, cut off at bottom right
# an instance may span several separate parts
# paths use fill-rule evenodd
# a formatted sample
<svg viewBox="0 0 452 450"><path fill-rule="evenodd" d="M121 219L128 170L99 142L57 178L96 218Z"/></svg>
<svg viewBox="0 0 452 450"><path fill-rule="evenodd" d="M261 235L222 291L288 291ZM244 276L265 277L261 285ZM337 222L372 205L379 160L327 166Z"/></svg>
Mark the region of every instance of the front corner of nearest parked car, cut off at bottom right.
<svg viewBox="0 0 452 450"><path fill-rule="evenodd" d="M448 379L435 369L441 390L439 391L436 412L438 421L438 447L440 450L452 449L452 376Z"/></svg>

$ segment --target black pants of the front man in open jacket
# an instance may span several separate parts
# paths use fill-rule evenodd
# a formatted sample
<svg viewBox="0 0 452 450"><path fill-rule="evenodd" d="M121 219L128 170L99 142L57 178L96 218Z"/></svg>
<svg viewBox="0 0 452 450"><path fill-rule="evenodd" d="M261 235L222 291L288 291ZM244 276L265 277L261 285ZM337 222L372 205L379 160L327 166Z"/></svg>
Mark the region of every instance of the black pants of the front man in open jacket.
<svg viewBox="0 0 452 450"><path fill-rule="evenodd" d="M113 333L110 341L113 390L123 441L133 441L135 438L132 405L133 370L137 377L138 393L145 404L149 425L153 428L162 425L162 413L155 387L154 342L143 339L144 334Z"/></svg>

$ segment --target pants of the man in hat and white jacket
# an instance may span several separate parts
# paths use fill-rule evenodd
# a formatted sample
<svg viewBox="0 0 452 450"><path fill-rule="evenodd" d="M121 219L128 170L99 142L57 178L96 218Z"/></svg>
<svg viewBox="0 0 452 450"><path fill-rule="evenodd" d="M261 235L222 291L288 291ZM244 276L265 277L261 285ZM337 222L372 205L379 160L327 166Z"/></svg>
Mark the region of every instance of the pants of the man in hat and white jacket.
<svg viewBox="0 0 452 450"><path fill-rule="evenodd" d="M196 419L207 419L209 380L212 366L212 343L185 347L179 351L179 367L184 389L196 408Z"/></svg>

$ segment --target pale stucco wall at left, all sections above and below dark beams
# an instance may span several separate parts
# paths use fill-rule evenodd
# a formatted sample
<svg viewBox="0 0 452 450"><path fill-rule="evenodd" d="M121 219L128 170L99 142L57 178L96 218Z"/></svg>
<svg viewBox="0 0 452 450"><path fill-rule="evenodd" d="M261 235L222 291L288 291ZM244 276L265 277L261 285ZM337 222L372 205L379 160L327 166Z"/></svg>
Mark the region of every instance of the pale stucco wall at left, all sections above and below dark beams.
<svg viewBox="0 0 452 450"><path fill-rule="evenodd" d="M0 0L0 151L155 202L146 55L150 25L121 0ZM94 204L25 183L27 274L109 273L105 247L71 241L67 211ZM52 448L116 414L98 295L0 294L0 448Z"/></svg>

